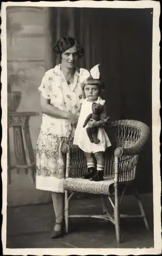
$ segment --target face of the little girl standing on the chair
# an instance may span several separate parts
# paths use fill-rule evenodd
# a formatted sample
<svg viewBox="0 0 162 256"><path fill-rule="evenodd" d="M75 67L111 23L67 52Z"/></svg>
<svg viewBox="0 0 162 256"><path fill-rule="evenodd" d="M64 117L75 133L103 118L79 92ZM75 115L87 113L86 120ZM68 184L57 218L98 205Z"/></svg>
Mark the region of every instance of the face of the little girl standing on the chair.
<svg viewBox="0 0 162 256"><path fill-rule="evenodd" d="M100 88L97 84L86 84L84 91L89 101L96 100L100 94Z"/></svg>

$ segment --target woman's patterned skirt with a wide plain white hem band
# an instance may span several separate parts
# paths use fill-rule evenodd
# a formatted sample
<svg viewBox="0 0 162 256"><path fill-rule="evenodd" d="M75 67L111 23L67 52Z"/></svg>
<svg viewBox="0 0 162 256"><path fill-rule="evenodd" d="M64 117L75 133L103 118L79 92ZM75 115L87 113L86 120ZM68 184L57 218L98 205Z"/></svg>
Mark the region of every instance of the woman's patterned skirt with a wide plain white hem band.
<svg viewBox="0 0 162 256"><path fill-rule="evenodd" d="M40 132L37 141L36 188L56 193L63 193L65 163L61 147L72 142L72 137Z"/></svg>

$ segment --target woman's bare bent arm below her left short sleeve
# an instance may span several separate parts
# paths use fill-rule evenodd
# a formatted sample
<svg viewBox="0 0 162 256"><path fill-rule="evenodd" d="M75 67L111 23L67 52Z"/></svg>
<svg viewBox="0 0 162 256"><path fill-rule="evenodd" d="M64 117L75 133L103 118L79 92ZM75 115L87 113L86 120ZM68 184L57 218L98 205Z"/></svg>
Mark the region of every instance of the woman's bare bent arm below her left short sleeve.
<svg viewBox="0 0 162 256"><path fill-rule="evenodd" d="M40 96L40 104L43 114L56 118L69 119L69 112L60 110L59 108L50 105L49 102L50 101L48 99L45 99L42 95Z"/></svg>

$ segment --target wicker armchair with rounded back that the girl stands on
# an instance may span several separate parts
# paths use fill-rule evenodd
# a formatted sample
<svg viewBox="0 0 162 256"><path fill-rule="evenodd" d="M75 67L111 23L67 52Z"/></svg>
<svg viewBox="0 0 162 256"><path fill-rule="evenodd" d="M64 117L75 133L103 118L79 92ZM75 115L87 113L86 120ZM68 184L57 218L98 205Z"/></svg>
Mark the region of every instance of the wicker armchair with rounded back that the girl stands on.
<svg viewBox="0 0 162 256"><path fill-rule="evenodd" d="M149 127L140 121L118 120L111 122L107 129L112 147L107 148L105 154L104 181L90 181L82 179L81 176L87 171L86 158L84 152L76 145L66 145L62 147L62 152L66 157L66 177L65 188L65 224L68 232L68 219L77 217L92 217L111 221L115 225L117 243L121 243L120 218L141 217L146 228L149 230L145 217L142 202L136 187L136 169L139 154L146 146L149 139ZM119 185L124 185L122 194L119 197ZM138 200L140 215L122 215L119 212L119 205L128 185L135 189L134 196ZM75 192L101 194L103 215L69 215L69 201ZM105 196L107 195L113 206L113 213L106 207ZM112 198L114 197L114 200Z"/></svg>

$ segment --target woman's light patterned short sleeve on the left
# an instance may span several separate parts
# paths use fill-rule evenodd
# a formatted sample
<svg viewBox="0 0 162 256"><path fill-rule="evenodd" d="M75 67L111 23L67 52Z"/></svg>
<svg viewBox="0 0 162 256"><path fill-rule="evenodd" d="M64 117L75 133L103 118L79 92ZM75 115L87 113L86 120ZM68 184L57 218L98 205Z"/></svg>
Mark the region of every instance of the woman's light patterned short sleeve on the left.
<svg viewBox="0 0 162 256"><path fill-rule="evenodd" d="M41 95L45 99L50 99L50 81L49 76L45 73L45 75L42 78L42 82L40 87L38 88L38 91L41 93Z"/></svg>

